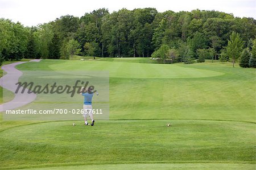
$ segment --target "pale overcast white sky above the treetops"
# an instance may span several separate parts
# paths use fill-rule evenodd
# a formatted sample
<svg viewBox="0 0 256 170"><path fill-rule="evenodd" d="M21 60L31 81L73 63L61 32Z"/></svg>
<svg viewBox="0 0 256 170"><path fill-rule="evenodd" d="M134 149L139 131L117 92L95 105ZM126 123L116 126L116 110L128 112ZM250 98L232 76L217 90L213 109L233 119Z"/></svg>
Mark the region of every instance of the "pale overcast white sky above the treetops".
<svg viewBox="0 0 256 170"><path fill-rule="evenodd" d="M11 19L24 26L37 26L67 14L81 17L103 7L110 13L122 8L145 7L154 7L159 12L215 10L256 19L256 0L0 0L0 18Z"/></svg>

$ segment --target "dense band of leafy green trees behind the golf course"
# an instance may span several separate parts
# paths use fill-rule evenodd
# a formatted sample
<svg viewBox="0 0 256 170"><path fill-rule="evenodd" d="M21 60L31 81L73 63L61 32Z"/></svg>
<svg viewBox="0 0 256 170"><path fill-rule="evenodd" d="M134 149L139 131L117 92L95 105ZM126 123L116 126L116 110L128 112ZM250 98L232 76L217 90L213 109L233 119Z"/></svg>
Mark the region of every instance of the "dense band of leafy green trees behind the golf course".
<svg viewBox="0 0 256 170"><path fill-rule="evenodd" d="M81 18L65 15L24 27L0 19L0 59L154 57L163 63L205 59L255 67L256 20L220 11L165 11L154 8L109 13L98 9Z"/></svg>

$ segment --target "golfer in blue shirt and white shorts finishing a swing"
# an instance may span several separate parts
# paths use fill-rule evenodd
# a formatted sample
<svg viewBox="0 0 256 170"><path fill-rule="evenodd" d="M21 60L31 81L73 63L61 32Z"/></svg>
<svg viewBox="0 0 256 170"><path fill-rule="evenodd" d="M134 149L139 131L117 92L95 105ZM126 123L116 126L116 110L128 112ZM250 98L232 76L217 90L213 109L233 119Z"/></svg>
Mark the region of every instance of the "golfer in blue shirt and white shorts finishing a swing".
<svg viewBox="0 0 256 170"><path fill-rule="evenodd" d="M90 116L90 119L92 119L92 124L90 126L94 125L94 119L93 119L93 114L92 114L92 97L93 97L93 88L90 86L88 90L86 91L85 89L82 89L81 91L82 96L84 96L84 113L82 116L84 117L84 125L90 125L87 122L87 117L88 114ZM96 91L96 94L98 95L98 92Z"/></svg>

